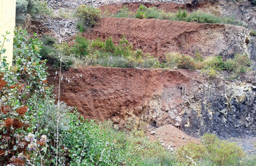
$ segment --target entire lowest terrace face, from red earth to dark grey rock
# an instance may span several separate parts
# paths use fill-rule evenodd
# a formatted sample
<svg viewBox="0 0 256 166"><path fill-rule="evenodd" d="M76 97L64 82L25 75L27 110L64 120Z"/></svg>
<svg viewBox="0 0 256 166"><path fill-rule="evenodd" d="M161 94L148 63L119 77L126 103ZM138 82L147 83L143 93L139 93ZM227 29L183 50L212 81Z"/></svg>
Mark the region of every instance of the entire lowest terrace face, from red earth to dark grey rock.
<svg viewBox="0 0 256 166"><path fill-rule="evenodd" d="M71 83L61 83L60 99L86 118L111 118L119 128L130 120L172 124L194 137L256 135L252 74L232 82L208 81L189 70L86 67L65 74L70 73L75 74L69 75ZM57 84L53 77L50 83Z"/></svg>

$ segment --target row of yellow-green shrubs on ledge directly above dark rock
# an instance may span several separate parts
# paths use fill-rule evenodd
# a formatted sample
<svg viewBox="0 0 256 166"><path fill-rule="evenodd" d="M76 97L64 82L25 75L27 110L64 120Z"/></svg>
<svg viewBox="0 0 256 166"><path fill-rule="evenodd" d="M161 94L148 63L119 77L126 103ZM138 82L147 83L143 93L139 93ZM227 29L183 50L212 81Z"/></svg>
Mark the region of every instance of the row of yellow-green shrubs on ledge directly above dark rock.
<svg viewBox="0 0 256 166"><path fill-rule="evenodd" d="M199 69L203 75L217 77L218 71L228 70L234 75L251 70L251 61L246 54L236 54L233 59L223 61L219 56L208 56L203 58L199 51L194 56L184 55L179 52L171 52L165 55L166 66L180 69Z"/></svg>

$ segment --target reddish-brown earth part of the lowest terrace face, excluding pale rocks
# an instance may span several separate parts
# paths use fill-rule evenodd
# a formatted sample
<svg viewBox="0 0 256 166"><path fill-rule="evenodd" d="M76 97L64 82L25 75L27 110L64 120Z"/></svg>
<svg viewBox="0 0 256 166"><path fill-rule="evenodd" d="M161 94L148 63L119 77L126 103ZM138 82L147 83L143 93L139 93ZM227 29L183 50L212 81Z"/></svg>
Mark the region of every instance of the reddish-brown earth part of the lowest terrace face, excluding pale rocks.
<svg viewBox="0 0 256 166"><path fill-rule="evenodd" d="M59 81L54 80L55 76L51 73L48 80L55 85L57 94ZM192 86L192 83L200 82L196 77L201 77L195 71L186 70L110 67L70 69L64 76L71 78L71 81L61 82L60 100L76 106L85 118L99 120L124 119L127 111L140 115L146 101L165 87L176 87L174 105L178 105L182 100L179 97L180 88L184 84Z"/></svg>

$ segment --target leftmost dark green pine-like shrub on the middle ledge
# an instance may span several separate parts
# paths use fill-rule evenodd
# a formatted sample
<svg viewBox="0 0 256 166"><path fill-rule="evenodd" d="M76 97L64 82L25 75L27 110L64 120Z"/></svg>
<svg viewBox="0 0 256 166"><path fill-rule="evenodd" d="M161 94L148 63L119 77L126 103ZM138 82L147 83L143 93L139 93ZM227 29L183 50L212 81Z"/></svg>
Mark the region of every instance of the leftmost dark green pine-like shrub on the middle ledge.
<svg viewBox="0 0 256 166"><path fill-rule="evenodd" d="M88 55L88 47L89 41L87 39L79 35L75 37L74 52L77 56L81 57Z"/></svg>

